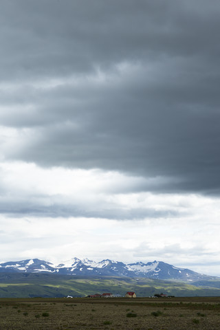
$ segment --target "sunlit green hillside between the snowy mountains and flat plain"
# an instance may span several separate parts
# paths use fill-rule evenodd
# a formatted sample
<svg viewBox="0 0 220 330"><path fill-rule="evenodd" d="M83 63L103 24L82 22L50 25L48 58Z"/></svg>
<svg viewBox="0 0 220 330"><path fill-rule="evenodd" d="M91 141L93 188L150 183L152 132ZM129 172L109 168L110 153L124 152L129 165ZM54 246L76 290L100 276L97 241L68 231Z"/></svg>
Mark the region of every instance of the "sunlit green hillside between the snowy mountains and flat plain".
<svg viewBox="0 0 220 330"><path fill-rule="evenodd" d="M89 294L111 292L124 296L134 291L137 296L153 296L163 292L172 296L220 296L219 282L206 287L159 281L150 278L81 278L56 274L0 274L0 298L22 297L83 297Z"/></svg>

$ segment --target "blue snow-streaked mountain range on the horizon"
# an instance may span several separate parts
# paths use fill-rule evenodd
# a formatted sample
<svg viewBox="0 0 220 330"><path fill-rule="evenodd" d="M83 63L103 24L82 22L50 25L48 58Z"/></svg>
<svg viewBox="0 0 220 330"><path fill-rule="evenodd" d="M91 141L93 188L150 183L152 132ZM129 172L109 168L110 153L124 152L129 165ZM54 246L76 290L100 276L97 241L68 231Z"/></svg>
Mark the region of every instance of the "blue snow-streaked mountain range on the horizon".
<svg viewBox="0 0 220 330"><path fill-rule="evenodd" d="M185 268L175 267L162 261L125 264L120 261L111 261L109 259L96 262L89 259L80 260L78 258L64 261L58 265L39 259L10 261L8 263L0 263L0 272L47 272L74 276L139 277L184 282L216 278L214 276L199 274Z"/></svg>

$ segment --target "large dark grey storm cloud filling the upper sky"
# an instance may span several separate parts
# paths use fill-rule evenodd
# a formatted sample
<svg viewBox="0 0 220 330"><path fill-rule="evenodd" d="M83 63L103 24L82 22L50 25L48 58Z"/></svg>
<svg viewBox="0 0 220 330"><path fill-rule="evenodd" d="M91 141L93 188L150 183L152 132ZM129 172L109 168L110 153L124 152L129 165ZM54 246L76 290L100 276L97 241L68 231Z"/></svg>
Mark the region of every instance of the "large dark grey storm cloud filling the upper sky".
<svg viewBox="0 0 220 330"><path fill-rule="evenodd" d="M0 120L33 132L5 157L218 194L219 14L219 1L3 1Z"/></svg>

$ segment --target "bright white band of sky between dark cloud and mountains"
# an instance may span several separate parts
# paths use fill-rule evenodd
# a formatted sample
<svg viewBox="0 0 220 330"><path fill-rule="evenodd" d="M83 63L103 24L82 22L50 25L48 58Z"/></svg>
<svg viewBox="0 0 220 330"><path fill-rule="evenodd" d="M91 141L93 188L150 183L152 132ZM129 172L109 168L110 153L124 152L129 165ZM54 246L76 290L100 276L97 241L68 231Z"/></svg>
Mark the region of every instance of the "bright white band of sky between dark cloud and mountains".
<svg viewBox="0 0 220 330"><path fill-rule="evenodd" d="M219 272L215 265L220 253L218 198L118 193L119 187L129 190L142 178L102 170L47 169L26 163L3 163L0 168L5 189L0 203L10 205L0 219L3 261L159 258L199 272L203 267L212 275ZM65 217L59 215L60 208ZM71 216L75 208L86 216ZM92 217L94 213L100 216ZM202 265L204 259L210 270Z"/></svg>

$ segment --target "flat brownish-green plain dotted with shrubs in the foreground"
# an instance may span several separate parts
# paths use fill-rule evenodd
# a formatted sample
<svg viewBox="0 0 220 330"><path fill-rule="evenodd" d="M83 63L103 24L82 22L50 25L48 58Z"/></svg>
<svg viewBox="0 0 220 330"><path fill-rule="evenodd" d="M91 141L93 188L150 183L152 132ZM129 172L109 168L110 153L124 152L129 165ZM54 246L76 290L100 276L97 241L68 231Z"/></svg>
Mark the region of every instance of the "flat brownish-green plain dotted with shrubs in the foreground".
<svg viewBox="0 0 220 330"><path fill-rule="evenodd" d="M217 330L220 297L1 298L0 329Z"/></svg>

